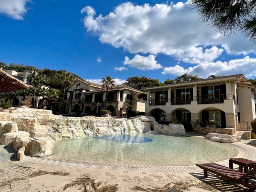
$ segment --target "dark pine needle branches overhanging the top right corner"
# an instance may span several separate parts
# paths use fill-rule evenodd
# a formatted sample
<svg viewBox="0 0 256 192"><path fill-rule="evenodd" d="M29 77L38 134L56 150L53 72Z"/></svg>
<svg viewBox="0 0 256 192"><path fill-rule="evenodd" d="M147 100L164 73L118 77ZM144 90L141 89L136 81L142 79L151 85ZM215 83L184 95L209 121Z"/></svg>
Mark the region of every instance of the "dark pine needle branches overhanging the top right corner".
<svg viewBox="0 0 256 192"><path fill-rule="evenodd" d="M203 22L211 23L222 35L241 31L256 44L255 0L191 0Z"/></svg>

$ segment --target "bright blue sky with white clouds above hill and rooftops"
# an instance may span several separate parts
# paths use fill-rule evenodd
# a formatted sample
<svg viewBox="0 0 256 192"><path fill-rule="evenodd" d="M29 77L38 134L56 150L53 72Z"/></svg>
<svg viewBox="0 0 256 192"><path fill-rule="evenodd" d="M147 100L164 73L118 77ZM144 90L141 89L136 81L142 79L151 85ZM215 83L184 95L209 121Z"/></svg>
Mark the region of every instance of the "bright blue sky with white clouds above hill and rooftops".
<svg viewBox="0 0 256 192"><path fill-rule="evenodd" d="M244 73L255 47L221 36L187 1L0 0L0 61L65 69L94 83L131 76L173 79Z"/></svg>

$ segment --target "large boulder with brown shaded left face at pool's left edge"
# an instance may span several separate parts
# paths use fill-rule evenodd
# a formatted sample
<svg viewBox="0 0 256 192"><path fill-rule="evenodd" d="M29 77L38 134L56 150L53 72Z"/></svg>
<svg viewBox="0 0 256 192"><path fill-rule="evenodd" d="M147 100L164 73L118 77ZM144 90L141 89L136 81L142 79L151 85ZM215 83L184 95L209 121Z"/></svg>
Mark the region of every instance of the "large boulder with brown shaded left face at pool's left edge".
<svg viewBox="0 0 256 192"><path fill-rule="evenodd" d="M27 148L31 157L45 157L52 155L54 140L47 137L33 138ZM27 149L26 149L27 150Z"/></svg>

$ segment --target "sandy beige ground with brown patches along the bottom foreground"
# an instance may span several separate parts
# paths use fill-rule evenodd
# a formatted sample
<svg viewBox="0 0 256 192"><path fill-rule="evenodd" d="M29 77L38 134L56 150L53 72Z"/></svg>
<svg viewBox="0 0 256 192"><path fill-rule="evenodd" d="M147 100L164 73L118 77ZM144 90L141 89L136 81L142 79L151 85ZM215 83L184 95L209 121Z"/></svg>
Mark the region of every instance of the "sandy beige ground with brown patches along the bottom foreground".
<svg viewBox="0 0 256 192"><path fill-rule="evenodd" d="M86 169L31 164L22 161L0 163L0 191L49 192L187 192L218 191L203 182L145 182L139 180L102 180L90 178Z"/></svg>

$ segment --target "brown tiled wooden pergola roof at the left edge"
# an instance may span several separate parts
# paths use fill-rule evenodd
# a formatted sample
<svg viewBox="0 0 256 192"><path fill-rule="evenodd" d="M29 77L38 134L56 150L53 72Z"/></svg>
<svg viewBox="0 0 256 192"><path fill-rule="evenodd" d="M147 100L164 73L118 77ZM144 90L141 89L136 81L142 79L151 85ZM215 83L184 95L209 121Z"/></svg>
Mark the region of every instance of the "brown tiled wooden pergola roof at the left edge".
<svg viewBox="0 0 256 192"><path fill-rule="evenodd" d="M28 85L0 69L0 93L27 89Z"/></svg>

